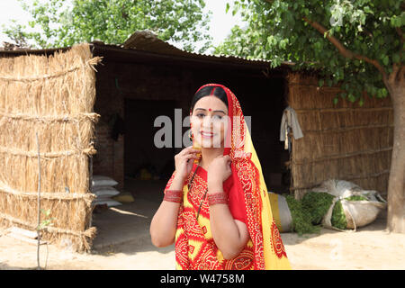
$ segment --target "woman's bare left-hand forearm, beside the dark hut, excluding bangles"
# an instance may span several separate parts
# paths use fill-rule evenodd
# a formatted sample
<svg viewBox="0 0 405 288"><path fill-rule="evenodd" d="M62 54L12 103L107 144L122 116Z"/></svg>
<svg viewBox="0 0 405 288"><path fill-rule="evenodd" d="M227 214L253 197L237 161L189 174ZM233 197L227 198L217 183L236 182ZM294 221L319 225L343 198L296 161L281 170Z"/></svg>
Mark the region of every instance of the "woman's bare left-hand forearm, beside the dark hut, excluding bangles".
<svg viewBox="0 0 405 288"><path fill-rule="evenodd" d="M169 190L183 190L184 180L174 178ZM162 201L150 223L152 244L166 247L175 242L175 230L180 203Z"/></svg>

